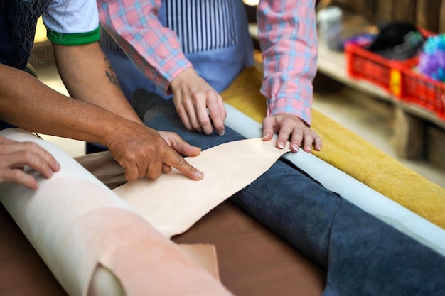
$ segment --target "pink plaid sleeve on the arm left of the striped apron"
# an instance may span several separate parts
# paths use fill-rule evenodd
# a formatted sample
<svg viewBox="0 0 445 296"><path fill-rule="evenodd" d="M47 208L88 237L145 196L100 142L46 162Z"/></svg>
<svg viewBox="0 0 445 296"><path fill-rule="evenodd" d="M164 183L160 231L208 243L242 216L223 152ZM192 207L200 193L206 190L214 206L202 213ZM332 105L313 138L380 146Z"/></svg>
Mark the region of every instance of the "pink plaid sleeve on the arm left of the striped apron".
<svg viewBox="0 0 445 296"><path fill-rule="evenodd" d="M97 0L100 22L130 60L163 92L171 80L193 67L176 33L157 18L160 0Z"/></svg>

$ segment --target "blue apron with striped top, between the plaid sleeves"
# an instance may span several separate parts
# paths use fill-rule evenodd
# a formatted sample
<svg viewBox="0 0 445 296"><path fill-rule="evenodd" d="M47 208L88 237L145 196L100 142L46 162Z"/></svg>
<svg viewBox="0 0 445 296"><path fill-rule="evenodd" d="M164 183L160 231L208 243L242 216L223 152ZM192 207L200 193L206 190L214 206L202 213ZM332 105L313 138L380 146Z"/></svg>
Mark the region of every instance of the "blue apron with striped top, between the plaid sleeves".
<svg viewBox="0 0 445 296"><path fill-rule="evenodd" d="M163 0L159 21L171 28L181 41L183 53L195 71L217 92L222 92L253 65L253 45L247 15L240 0ZM138 88L167 96L147 79L116 45L104 35L102 49L119 78L127 99Z"/></svg>

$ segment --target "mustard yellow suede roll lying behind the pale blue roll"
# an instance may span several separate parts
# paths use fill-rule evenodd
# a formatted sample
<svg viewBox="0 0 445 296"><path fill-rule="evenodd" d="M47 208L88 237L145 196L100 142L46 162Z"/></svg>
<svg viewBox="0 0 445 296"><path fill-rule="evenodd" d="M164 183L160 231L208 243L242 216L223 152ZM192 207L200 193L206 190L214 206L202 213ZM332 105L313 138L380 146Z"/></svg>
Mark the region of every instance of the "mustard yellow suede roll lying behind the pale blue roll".
<svg viewBox="0 0 445 296"><path fill-rule="evenodd" d="M262 73L247 67L221 96L227 104L262 122L266 99L259 92ZM348 128L312 110L312 128L323 139L313 154L372 189L445 229L445 189L383 153Z"/></svg>

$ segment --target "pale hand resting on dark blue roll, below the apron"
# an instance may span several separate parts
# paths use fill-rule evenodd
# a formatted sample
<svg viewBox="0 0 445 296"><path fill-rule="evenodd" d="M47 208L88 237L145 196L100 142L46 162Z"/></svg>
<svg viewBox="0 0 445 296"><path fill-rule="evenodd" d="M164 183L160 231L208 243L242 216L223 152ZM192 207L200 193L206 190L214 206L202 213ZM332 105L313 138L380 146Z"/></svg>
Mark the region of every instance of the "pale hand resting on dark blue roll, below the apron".
<svg viewBox="0 0 445 296"><path fill-rule="evenodd" d="M193 68L176 77L170 84L173 102L184 126L191 131L224 134L227 112L223 98Z"/></svg>

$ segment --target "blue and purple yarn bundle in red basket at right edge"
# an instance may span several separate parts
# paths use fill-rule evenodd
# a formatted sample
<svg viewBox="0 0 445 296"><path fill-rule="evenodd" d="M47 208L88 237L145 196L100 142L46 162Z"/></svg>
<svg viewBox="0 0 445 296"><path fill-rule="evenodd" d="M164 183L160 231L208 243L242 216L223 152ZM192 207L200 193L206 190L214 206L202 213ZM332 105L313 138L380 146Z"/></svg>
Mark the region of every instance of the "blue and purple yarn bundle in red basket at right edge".
<svg viewBox="0 0 445 296"><path fill-rule="evenodd" d="M419 55L417 70L434 80L445 82L445 34L427 38Z"/></svg>

